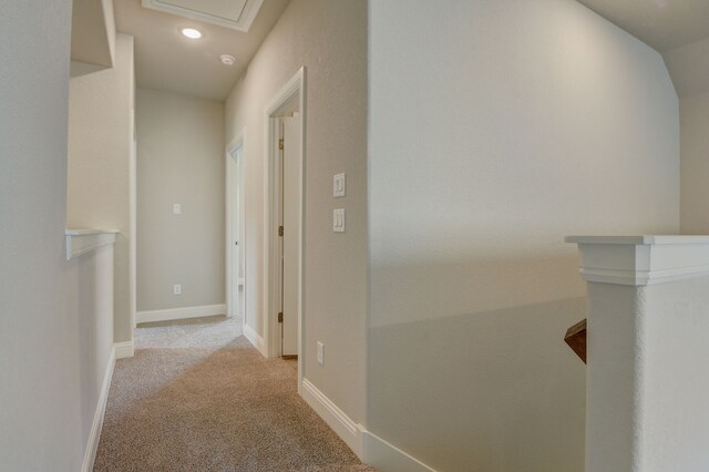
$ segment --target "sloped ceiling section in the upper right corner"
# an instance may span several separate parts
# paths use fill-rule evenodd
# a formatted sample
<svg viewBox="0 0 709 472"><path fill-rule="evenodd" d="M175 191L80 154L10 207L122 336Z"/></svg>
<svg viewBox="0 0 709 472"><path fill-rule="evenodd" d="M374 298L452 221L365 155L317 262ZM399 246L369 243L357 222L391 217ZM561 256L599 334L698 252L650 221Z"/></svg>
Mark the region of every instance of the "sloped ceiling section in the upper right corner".
<svg viewBox="0 0 709 472"><path fill-rule="evenodd" d="M578 0L662 54L680 98L709 92L709 0Z"/></svg>

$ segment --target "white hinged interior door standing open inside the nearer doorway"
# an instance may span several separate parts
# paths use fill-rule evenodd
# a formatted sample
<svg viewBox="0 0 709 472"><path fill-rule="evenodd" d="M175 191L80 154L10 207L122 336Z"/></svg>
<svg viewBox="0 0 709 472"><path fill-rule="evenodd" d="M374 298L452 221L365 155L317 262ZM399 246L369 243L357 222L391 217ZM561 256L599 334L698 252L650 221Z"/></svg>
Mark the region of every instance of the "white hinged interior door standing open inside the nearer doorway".
<svg viewBox="0 0 709 472"><path fill-rule="evenodd" d="M298 234L300 215L300 126L301 116L284 119L284 172L282 172L282 356L298 355Z"/></svg>

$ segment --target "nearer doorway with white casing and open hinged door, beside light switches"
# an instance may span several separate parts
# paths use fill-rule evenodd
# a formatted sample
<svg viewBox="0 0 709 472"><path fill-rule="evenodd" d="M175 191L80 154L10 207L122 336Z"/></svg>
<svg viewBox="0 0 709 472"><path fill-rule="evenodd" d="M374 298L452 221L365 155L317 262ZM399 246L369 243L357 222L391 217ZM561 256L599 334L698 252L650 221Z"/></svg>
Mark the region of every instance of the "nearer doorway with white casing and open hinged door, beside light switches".
<svg viewBox="0 0 709 472"><path fill-rule="evenodd" d="M269 357L298 359L302 378L305 68L266 109L265 332ZM282 140L282 141L281 141Z"/></svg>

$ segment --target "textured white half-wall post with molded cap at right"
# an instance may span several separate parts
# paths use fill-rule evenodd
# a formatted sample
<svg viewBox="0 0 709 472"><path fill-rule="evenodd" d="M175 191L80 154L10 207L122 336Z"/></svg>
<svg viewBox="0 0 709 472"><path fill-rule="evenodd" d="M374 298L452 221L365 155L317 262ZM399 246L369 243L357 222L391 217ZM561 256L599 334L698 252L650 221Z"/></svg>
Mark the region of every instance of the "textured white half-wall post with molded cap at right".
<svg viewBox="0 0 709 472"><path fill-rule="evenodd" d="M572 236L588 283L586 472L709 470L709 236Z"/></svg>

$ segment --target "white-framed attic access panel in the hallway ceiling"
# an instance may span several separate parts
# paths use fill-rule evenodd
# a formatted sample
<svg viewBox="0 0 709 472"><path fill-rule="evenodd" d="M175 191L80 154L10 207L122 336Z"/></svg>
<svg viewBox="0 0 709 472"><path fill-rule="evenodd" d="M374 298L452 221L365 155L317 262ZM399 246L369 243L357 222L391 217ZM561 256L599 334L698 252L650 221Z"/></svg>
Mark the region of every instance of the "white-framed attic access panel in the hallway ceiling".
<svg viewBox="0 0 709 472"><path fill-rule="evenodd" d="M264 0L142 0L144 8L248 32Z"/></svg>

